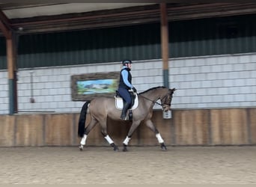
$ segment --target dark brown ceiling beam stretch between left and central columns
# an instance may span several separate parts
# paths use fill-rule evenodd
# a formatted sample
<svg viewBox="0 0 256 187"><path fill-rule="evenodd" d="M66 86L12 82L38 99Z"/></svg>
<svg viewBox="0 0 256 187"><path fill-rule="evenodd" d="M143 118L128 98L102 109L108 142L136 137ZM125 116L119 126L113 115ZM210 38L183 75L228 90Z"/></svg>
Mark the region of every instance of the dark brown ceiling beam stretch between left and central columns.
<svg viewBox="0 0 256 187"><path fill-rule="evenodd" d="M158 7L158 8L157 8ZM121 25L134 25L159 21L159 4L140 7L128 7L115 10L98 10L86 13L68 13L58 16L40 16L37 18L12 19L11 26L21 34L33 32L67 31L88 28L103 28Z"/></svg>

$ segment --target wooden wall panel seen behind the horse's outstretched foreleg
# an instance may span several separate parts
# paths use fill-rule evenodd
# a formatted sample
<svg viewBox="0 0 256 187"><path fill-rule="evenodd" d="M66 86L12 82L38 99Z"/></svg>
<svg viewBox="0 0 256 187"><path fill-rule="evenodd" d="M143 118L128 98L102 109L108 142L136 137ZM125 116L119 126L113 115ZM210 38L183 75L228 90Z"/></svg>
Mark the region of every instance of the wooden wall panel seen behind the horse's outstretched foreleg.
<svg viewBox="0 0 256 187"><path fill-rule="evenodd" d="M166 145L170 145L171 142L171 119L163 119L162 111L153 111L152 122L159 130L162 139ZM139 145L159 145L156 135L149 129L146 124L141 123L139 127Z"/></svg>

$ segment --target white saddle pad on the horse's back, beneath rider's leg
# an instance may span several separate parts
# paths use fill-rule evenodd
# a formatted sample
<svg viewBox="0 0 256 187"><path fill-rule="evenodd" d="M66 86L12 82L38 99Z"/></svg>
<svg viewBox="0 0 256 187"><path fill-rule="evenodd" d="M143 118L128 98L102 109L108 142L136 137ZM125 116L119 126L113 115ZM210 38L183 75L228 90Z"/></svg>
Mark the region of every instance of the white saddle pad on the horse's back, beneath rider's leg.
<svg viewBox="0 0 256 187"><path fill-rule="evenodd" d="M132 98L132 104L129 110L134 110L135 108L138 107L138 94L132 91L129 91L129 95ZM118 91L115 91L115 107L118 108L119 110L122 110L124 107L124 100L120 96Z"/></svg>

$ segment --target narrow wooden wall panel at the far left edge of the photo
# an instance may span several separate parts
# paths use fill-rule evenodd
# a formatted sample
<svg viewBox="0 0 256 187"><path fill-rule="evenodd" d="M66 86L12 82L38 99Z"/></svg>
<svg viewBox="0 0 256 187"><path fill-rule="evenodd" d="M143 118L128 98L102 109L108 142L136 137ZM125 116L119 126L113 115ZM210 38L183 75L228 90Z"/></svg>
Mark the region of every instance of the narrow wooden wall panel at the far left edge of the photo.
<svg viewBox="0 0 256 187"><path fill-rule="evenodd" d="M0 115L0 147L14 146L14 116Z"/></svg>

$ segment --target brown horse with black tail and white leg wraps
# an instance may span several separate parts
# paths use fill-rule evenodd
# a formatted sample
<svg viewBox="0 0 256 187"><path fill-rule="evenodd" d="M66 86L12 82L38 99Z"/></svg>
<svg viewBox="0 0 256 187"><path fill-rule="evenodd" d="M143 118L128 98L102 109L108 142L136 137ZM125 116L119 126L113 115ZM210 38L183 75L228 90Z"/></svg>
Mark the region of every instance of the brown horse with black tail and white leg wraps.
<svg viewBox="0 0 256 187"><path fill-rule="evenodd" d="M138 93L138 107L133 109L132 125L129 128L127 137L124 139L123 151L127 151L127 146L132 137L132 133L135 132L135 129L137 129L141 121L144 121L147 127L149 127L149 129L155 133L161 149L167 150L164 140L162 139L158 129L156 129L156 126L153 124L151 117L153 115L153 105L155 105L155 103L161 105L163 111L171 110L171 100L175 90L175 88L169 89L160 86ZM157 102L159 99L161 103ZM91 121L88 126L85 127L86 114L90 114ZM121 120L120 116L121 110L116 108L114 96L98 96L91 101L85 102L79 116L78 135L80 138L82 138L79 149L83 150L89 132L94 128L94 126L96 126L97 123L99 123L101 133L106 141L108 141L110 146L113 147L113 150L118 151L118 146L115 144L112 138L109 137L106 122L107 117L110 117L112 120Z"/></svg>

